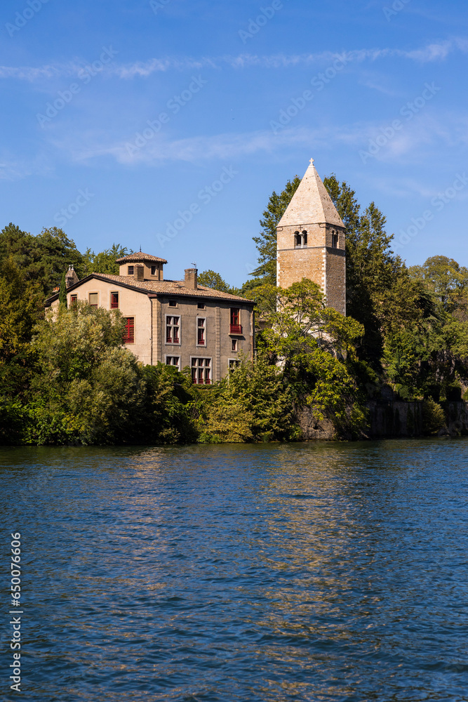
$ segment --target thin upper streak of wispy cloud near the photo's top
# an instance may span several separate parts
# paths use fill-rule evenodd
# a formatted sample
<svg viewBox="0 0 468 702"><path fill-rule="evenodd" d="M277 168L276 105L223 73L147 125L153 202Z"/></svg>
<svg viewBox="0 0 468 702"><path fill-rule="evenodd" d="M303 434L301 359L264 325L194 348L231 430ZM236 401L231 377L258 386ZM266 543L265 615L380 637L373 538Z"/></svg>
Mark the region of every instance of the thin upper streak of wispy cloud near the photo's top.
<svg viewBox="0 0 468 702"><path fill-rule="evenodd" d="M120 79L148 78L152 74L170 70L197 70L202 68L219 69L229 66L233 69L248 68L291 68L307 67L311 65L330 64L333 60L347 56L347 60L354 62L377 61L385 58L403 58L419 63L428 63L444 60L454 51L468 53L468 39L457 37L444 41L436 41L421 48L403 50L396 48L363 48L351 51L323 51L321 53L302 54L272 54L258 55L241 53L239 55L223 55L218 57L191 58L150 58L146 61L136 61L126 64L112 64L102 70L102 74L115 76ZM0 66L0 79L16 79L24 81L49 80L54 77L76 76L86 68L86 62L74 60L67 63L48 64L39 67L31 66Z"/></svg>

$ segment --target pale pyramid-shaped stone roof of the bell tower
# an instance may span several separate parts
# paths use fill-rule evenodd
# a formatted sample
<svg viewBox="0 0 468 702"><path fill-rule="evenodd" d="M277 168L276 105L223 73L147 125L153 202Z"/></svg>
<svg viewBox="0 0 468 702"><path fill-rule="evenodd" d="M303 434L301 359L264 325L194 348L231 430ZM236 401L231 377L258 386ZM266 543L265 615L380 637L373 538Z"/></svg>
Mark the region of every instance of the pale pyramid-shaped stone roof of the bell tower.
<svg viewBox="0 0 468 702"><path fill-rule="evenodd" d="M331 224L345 227L325 185L310 159L310 166L283 214L279 227L299 227L310 224Z"/></svg>

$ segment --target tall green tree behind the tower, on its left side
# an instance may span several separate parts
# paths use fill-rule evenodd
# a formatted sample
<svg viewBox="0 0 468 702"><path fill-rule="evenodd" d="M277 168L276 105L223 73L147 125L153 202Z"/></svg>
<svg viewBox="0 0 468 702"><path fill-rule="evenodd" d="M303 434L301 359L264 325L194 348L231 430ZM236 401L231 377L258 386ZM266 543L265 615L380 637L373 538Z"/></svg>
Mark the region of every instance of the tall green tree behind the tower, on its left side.
<svg viewBox="0 0 468 702"><path fill-rule="evenodd" d="M272 192L267 208L260 220L260 226L262 227L260 236L253 237L259 256L258 267L255 268L251 275L271 285L276 285L276 227L286 212L288 204L293 199L300 182L301 178L295 176L293 180L288 180L286 187L279 194L275 191Z"/></svg>

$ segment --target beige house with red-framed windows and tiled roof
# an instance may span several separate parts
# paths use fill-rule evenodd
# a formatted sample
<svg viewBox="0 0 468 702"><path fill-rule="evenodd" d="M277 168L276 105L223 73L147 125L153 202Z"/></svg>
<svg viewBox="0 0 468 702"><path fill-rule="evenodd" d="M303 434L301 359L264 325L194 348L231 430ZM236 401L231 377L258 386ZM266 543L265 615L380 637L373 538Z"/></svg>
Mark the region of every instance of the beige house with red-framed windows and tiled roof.
<svg viewBox="0 0 468 702"><path fill-rule="evenodd" d="M198 284L196 268L184 280L165 280L167 261L134 253L117 261L119 275L92 273L78 280L67 273L67 305L82 300L120 310L126 347L144 364L189 366L194 383L224 377L240 352L251 357L255 338L253 302ZM58 293L46 307L58 307Z"/></svg>

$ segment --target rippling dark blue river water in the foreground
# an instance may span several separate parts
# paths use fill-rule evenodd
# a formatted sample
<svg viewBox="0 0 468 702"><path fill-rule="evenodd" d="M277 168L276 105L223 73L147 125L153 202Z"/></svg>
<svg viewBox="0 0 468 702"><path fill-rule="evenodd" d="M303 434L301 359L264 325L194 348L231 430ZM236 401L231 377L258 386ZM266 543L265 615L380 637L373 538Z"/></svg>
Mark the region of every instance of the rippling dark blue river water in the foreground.
<svg viewBox="0 0 468 702"><path fill-rule="evenodd" d="M466 439L1 449L0 485L1 699L468 700Z"/></svg>

